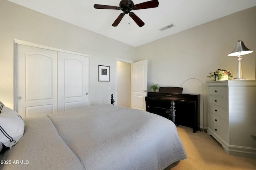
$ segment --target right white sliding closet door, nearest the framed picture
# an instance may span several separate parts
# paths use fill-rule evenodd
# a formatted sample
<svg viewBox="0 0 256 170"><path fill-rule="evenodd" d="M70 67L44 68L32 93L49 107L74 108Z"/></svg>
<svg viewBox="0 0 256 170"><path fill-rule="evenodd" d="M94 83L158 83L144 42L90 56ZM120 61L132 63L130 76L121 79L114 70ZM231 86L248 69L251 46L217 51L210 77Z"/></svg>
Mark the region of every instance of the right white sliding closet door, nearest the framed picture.
<svg viewBox="0 0 256 170"><path fill-rule="evenodd" d="M89 106L88 58L58 52L58 112Z"/></svg>

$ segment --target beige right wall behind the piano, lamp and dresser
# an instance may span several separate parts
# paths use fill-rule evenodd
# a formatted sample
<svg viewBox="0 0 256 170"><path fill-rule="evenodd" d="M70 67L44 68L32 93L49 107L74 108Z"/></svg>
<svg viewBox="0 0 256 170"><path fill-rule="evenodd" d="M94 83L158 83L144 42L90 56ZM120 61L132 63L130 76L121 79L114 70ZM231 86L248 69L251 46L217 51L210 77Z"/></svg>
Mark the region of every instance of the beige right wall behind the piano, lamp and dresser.
<svg viewBox="0 0 256 170"><path fill-rule="evenodd" d="M242 59L243 76L246 79L255 79L256 6L136 47L136 61L148 59L148 87L152 83L160 86L180 86L188 78L201 80L203 89L201 82L196 79L188 80L182 87L184 93L201 94L201 98L204 90L204 118L207 127L206 82L212 79L206 76L222 68L231 70L236 77L238 62L236 57L228 57L228 54L233 51L239 39L254 51L244 55ZM201 126L202 106L201 102Z"/></svg>

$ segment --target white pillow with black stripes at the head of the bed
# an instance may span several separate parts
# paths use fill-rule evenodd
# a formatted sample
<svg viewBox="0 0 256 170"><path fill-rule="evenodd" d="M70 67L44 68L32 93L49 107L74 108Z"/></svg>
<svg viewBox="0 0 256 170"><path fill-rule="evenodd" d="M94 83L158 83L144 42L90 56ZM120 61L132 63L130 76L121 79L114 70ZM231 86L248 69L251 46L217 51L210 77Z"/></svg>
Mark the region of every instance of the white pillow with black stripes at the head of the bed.
<svg viewBox="0 0 256 170"><path fill-rule="evenodd" d="M14 147L24 133L24 120L14 110L0 104L0 142Z"/></svg>

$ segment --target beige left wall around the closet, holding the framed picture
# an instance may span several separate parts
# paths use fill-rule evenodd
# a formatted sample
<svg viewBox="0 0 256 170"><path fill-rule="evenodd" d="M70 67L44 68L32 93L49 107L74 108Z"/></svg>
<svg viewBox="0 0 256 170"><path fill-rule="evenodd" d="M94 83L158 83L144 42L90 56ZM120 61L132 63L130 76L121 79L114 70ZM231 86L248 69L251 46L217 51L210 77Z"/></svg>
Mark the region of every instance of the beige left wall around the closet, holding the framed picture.
<svg viewBox="0 0 256 170"><path fill-rule="evenodd" d="M0 101L11 108L14 107L14 39L90 55L90 105L110 104L111 94L116 98L116 58L135 60L132 46L0 0ZM110 66L110 82L98 82L98 65Z"/></svg>

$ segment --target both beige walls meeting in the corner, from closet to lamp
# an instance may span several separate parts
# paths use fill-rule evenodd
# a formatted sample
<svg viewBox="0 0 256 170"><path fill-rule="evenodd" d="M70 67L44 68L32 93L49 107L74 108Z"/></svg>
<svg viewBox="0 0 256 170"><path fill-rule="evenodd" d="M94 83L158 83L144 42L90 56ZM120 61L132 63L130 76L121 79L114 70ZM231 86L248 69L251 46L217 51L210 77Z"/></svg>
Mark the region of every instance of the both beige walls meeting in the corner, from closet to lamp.
<svg viewBox="0 0 256 170"><path fill-rule="evenodd" d="M253 7L134 48L0 0L0 101L8 107L14 107L14 39L20 39L90 55L90 105L110 103L111 94L116 98L117 58L127 61L148 59L148 87L152 83L180 86L188 78L198 78L204 84L207 120L206 81L211 79L206 76L209 72L223 68L231 70L236 77L236 58L227 55L234 49L238 39L242 39L246 47L254 51L244 56L242 69L244 77L255 79L255 18L256 7ZM110 66L110 82L98 82L98 65ZM185 93L202 94L202 84L198 80L188 80L182 87ZM202 110L201 102L201 125Z"/></svg>

